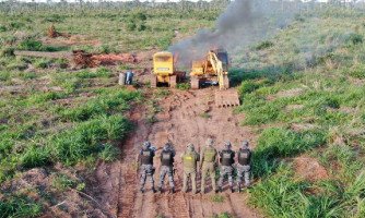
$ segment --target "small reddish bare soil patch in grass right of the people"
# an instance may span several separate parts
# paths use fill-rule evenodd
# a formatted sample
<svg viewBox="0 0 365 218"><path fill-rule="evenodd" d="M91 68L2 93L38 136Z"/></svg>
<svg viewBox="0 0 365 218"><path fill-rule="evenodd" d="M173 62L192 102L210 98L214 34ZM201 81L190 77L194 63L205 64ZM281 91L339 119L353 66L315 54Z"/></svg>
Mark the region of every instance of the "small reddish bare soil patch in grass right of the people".
<svg viewBox="0 0 365 218"><path fill-rule="evenodd" d="M308 181L319 181L329 178L328 172L318 160L311 157L297 157L294 158L295 173Z"/></svg>

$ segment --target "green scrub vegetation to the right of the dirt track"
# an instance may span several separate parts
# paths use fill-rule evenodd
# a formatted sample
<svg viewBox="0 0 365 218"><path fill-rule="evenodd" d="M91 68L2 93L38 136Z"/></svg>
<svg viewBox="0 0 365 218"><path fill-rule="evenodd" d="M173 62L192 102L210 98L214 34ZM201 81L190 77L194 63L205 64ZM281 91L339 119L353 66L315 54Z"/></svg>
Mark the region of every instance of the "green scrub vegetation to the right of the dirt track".
<svg viewBox="0 0 365 218"><path fill-rule="evenodd" d="M270 217L364 217L364 12L305 14L233 70L243 125L259 134L250 203ZM328 177L308 180L310 157Z"/></svg>

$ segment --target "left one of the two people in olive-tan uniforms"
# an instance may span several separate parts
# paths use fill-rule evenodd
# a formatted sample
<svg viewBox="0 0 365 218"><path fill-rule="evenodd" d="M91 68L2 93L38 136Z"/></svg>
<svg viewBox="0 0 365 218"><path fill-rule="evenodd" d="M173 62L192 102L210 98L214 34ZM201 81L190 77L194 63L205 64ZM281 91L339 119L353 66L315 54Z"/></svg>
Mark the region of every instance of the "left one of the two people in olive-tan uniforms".
<svg viewBox="0 0 365 218"><path fill-rule="evenodd" d="M188 180L191 179L192 193L197 194L197 162L199 161L199 154L195 150L190 143L187 150L181 155L184 167L182 191L188 192Z"/></svg>

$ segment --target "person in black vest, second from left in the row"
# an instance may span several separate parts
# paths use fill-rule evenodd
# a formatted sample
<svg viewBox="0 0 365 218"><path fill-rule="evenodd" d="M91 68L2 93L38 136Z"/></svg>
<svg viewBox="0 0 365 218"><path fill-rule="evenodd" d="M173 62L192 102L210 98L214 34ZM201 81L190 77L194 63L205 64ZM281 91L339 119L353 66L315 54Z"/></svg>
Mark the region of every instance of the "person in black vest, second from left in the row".
<svg viewBox="0 0 365 218"><path fill-rule="evenodd" d="M169 182L169 192L175 193L174 184L174 157L175 150L169 143L166 143L162 153L161 153L161 168L160 168L160 182L158 182L158 192L162 192L162 186L165 180L166 174L168 175Z"/></svg>

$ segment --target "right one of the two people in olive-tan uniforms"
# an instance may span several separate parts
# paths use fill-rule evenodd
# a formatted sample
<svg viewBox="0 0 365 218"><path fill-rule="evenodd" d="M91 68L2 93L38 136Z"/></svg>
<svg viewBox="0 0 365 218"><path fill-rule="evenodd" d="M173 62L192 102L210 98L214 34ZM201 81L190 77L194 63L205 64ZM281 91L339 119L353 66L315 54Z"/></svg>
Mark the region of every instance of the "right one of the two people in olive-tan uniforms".
<svg viewBox="0 0 365 218"><path fill-rule="evenodd" d="M213 140L207 140L207 146L200 153L200 168L201 170L201 193L205 193L205 180L210 177L212 180L212 189L216 192L215 184L215 168L216 168L216 149L213 147Z"/></svg>

